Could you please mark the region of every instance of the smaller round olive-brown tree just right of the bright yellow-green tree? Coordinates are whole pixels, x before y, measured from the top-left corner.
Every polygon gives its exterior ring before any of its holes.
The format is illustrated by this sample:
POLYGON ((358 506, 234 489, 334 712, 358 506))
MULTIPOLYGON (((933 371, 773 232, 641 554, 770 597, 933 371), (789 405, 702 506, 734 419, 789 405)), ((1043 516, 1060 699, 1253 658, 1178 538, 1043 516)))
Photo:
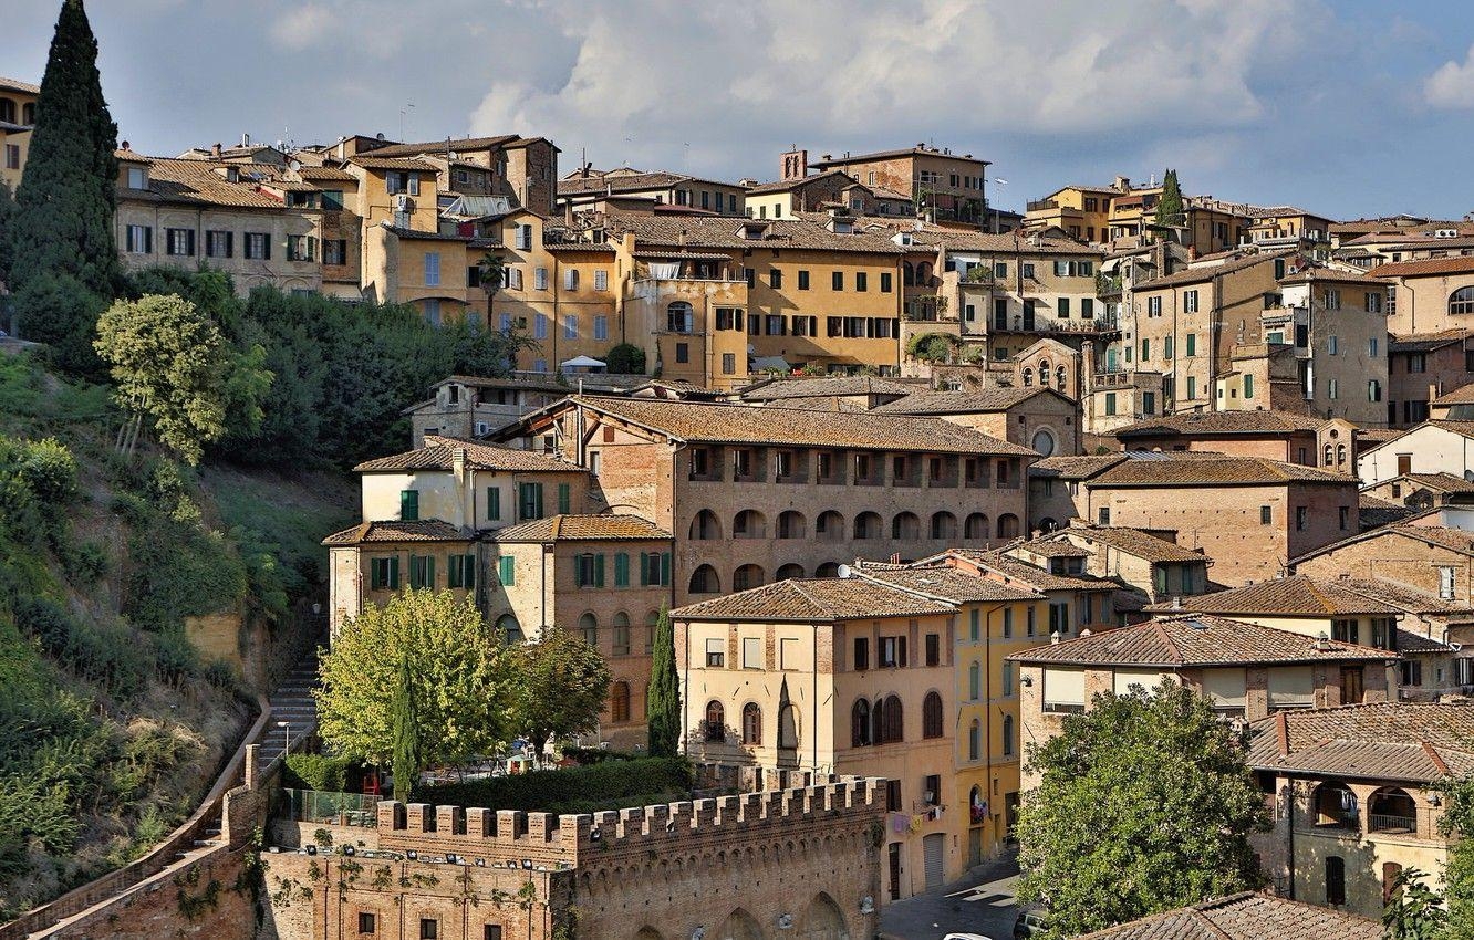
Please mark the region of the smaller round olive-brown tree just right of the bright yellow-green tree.
POLYGON ((550 628, 538 642, 511 648, 519 676, 513 720, 538 760, 550 740, 598 726, 609 697, 609 666, 598 650, 569 631, 550 628))

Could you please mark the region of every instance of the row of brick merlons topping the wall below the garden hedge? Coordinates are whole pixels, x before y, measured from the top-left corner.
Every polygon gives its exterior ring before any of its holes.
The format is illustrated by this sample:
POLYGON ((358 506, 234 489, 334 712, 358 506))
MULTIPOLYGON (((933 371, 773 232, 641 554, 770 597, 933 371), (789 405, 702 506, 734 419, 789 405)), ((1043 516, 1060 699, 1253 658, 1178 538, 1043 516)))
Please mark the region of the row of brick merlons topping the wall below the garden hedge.
POLYGON ((879 816, 884 781, 864 776, 802 775, 811 785, 706 800, 682 800, 593 815, 525 813, 482 807, 379 803, 379 849, 455 855, 467 862, 576 868, 594 853, 685 852, 736 838, 830 828, 840 818, 879 816))

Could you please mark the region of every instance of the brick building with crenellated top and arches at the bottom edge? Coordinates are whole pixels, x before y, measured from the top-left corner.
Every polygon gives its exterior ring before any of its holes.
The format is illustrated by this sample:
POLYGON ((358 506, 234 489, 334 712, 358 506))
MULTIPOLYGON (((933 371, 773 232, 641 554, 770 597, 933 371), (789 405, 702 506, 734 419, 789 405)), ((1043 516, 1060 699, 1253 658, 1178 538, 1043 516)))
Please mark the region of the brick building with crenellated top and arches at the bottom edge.
POLYGON ((268 927, 280 940, 870 937, 884 781, 818 781, 581 816, 383 802, 376 825, 333 829, 352 855, 261 856, 290 893, 270 899, 268 927))

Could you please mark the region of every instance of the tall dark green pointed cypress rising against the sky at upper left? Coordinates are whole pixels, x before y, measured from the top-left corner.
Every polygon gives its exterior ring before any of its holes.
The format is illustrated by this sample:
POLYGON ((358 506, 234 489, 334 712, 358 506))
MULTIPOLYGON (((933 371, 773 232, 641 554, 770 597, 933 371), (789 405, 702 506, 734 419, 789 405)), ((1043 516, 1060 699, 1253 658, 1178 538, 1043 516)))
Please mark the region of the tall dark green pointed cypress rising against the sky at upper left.
MULTIPOLYGON (((6 225, 6 249, 25 336, 50 343, 60 365, 90 370, 94 320, 87 305, 49 306, 37 290, 43 274, 63 278, 97 298, 112 298, 118 250, 118 125, 108 112, 97 72, 97 38, 83 0, 65 0, 35 103, 35 128, 18 214, 6 225)), ((96 312, 96 311, 93 311, 96 312)))

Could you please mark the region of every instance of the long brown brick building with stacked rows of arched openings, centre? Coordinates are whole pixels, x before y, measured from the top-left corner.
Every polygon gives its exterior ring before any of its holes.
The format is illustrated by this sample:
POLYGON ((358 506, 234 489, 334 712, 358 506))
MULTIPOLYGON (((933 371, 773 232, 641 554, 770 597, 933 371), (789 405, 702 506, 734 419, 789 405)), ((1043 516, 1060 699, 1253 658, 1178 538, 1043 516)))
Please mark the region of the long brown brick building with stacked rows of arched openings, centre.
POLYGON ((677 539, 678 603, 1023 532, 1033 452, 936 418, 573 396, 500 435, 677 539))

